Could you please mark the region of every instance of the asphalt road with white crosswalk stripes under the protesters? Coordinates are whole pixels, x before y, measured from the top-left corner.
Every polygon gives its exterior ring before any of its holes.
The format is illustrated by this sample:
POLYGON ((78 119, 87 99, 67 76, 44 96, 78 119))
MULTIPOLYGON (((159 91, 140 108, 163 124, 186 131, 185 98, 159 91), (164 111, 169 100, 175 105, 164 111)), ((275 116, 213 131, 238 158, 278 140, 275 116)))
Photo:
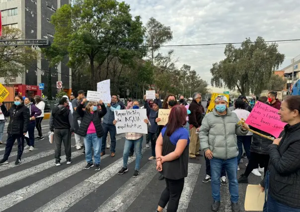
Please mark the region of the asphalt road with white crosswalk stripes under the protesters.
MULTIPOLYGON (((48 128, 48 120, 44 120, 44 135, 49 131, 48 128)), ((6 140, 6 136, 3 140, 6 140)), ((123 164, 124 140, 124 135, 117 136, 116 156, 102 157, 100 171, 83 169, 86 165, 85 157, 82 150, 75 149, 74 136, 72 164, 66 164, 62 150, 60 167, 54 166, 54 146, 48 138, 37 141, 34 151, 25 150, 19 166, 14 165, 17 151, 14 146, 8 159, 10 163, 0 166, 0 211, 154 212, 165 182, 157 180, 159 174, 155 170, 155 162, 148 160, 151 150, 145 148, 145 138, 139 177, 132 177, 135 157, 129 160, 129 171, 126 174, 117 174, 123 164)), ((0 145, 0 157, 4 148, 4 145, 0 145)), ((106 150, 106 153, 109 151, 106 150)), ((244 164, 240 165, 238 176, 243 173, 244 164)), ((211 185, 202 182, 206 175, 204 158, 189 161, 188 172, 178 212, 211 211, 211 185)), ((260 180, 260 177, 253 174, 249 176, 250 184, 258 184, 260 180)), ((239 185, 242 212, 246 186, 239 185)), ((220 212, 230 212, 228 186, 221 186, 221 195, 220 212)))

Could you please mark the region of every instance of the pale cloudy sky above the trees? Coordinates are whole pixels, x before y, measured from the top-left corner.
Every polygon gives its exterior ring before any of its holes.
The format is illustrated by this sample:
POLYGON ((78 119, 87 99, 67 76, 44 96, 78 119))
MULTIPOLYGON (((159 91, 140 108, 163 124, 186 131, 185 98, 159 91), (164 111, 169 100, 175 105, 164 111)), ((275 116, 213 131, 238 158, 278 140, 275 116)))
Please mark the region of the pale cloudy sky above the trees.
MULTIPOLYGON (((165 45, 242 42, 300 38, 299 0, 125 0, 133 16, 146 24, 152 16, 170 26, 173 40, 165 45)), ((300 55, 300 41, 278 42, 286 59, 280 69, 300 55)), ((236 45, 239 47, 240 45, 236 45)), ((190 65, 209 85, 212 64, 224 59, 225 45, 205 47, 162 47, 161 53, 174 49, 177 66, 190 65)), ((211 86, 210 86, 211 88, 211 86)), ((226 89, 216 89, 224 91, 226 89)))

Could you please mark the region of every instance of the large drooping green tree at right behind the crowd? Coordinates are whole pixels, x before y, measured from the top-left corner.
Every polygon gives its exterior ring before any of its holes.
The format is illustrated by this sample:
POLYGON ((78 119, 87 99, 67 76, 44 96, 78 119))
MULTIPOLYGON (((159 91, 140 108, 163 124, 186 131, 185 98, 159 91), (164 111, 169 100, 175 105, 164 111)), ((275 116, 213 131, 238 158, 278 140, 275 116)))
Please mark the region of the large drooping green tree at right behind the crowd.
POLYGON ((226 58, 211 68, 212 86, 237 88, 242 95, 251 91, 259 94, 272 76, 272 71, 283 63, 285 55, 278 52, 278 44, 267 44, 262 37, 252 42, 247 38, 240 48, 225 47, 226 58))

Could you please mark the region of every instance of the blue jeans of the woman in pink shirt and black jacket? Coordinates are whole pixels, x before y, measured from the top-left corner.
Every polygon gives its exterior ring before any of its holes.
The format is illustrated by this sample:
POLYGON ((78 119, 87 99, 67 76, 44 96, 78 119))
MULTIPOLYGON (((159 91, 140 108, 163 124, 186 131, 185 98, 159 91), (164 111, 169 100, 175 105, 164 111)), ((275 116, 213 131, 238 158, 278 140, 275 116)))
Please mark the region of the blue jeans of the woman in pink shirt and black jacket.
POLYGON ((97 133, 86 134, 84 137, 85 160, 87 163, 92 163, 92 148, 94 148, 95 164, 100 164, 100 147, 102 137, 97 137, 97 133))

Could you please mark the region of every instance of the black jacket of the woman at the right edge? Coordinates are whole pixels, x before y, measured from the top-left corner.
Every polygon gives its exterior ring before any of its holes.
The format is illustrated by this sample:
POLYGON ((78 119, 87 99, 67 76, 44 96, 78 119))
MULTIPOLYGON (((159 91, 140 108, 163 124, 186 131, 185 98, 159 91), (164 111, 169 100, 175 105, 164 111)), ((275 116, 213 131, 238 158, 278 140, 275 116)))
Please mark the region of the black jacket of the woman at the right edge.
POLYGON ((271 197, 300 209, 300 123, 286 125, 279 146, 270 145, 269 191, 271 197))

